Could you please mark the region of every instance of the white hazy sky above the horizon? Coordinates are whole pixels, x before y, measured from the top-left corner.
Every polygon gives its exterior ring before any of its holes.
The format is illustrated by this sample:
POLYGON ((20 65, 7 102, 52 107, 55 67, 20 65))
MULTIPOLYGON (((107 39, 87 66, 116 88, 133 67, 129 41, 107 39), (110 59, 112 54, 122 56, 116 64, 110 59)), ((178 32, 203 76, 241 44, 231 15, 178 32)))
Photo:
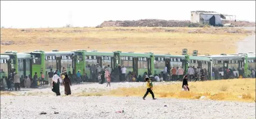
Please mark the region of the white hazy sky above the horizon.
POLYGON ((1 26, 97 26, 105 20, 190 20, 190 11, 216 11, 255 21, 255 1, 1 1, 1 26))

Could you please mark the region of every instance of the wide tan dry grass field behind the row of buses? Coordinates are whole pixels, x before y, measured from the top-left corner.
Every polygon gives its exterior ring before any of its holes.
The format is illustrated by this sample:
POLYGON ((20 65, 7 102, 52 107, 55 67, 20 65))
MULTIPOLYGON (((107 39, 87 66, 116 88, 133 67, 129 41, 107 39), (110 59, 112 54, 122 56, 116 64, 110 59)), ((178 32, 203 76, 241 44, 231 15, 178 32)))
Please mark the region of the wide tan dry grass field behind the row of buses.
POLYGON ((5 50, 97 49, 181 54, 183 48, 189 53, 197 49, 198 54, 235 53, 237 41, 251 33, 232 27, 1 28, 1 42, 14 42, 9 46, 1 44, 1 53, 5 50))

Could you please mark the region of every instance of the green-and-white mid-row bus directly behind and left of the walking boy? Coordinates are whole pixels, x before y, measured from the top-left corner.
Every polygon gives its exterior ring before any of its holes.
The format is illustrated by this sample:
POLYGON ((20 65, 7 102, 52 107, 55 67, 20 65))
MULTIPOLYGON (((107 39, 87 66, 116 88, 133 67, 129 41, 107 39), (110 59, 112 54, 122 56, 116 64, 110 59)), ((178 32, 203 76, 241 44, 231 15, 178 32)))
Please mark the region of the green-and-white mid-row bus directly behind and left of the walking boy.
POLYGON ((137 76, 143 76, 144 72, 147 72, 148 76, 154 73, 154 55, 152 53, 114 51, 113 55, 114 68, 118 64, 124 65, 126 73, 134 71, 137 76))

